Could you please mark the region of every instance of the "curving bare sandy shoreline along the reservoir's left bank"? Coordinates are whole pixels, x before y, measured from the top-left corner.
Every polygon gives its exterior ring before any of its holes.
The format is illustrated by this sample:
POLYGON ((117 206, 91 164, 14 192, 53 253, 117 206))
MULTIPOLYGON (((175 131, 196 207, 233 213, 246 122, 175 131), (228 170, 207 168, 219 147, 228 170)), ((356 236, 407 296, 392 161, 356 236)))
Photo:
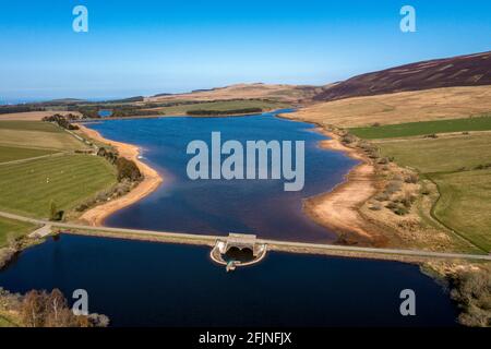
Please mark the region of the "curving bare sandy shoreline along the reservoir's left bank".
POLYGON ((80 130, 88 137, 113 146, 120 156, 133 160, 144 176, 143 181, 128 194, 85 212, 80 219, 91 226, 103 226, 104 220, 117 210, 128 207, 153 193, 163 182, 161 176, 139 159, 140 148, 132 144, 107 140, 95 130, 79 124, 80 130))

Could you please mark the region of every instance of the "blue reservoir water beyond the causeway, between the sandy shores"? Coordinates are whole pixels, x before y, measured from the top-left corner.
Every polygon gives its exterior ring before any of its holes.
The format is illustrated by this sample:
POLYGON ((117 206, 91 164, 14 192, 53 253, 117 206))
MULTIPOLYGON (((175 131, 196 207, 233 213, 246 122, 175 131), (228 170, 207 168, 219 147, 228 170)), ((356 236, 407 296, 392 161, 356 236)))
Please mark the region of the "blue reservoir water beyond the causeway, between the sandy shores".
POLYGON ((160 118, 111 120, 88 127, 104 136, 136 144, 144 160, 164 174, 164 184, 141 202, 118 212, 106 225, 139 229, 332 242, 335 234, 302 212, 302 200, 330 191, 356 164, 342 153, 319 148, 325 137, 314 127, 271 113, 243 118, 160 118), (221 142, 304 141, 306 185, 285 192, 283 180, 197 180, 187 176, 188 143, 221 132, 221 142))

